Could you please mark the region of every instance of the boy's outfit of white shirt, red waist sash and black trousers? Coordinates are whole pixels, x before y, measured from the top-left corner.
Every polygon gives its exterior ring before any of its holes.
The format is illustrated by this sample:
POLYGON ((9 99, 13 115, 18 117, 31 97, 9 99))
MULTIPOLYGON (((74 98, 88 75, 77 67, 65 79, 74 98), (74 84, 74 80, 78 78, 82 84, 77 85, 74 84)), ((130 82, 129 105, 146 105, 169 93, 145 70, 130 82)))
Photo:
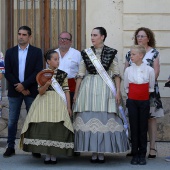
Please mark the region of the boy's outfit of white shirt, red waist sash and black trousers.
POLYGON ((149 93, 154 91, 154 84, 154 69, 147 66, 145 63, 141 65, 132 63, 131 67, 126 68, 124 74, 124 88, 128 94, 127 108, 134 161, 135 159, 145 158, 146 156, 148 118, 150 111, 149 93))

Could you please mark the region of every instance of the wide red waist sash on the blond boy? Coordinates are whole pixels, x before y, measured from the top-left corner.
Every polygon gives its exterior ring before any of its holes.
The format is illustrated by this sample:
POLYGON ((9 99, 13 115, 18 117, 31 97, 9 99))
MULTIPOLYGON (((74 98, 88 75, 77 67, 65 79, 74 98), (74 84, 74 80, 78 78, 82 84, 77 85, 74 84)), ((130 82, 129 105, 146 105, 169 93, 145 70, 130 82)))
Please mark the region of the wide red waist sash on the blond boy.
POLYGON ((149 100, 149 83, 130 83, 128 98, 132 100, 149 100))

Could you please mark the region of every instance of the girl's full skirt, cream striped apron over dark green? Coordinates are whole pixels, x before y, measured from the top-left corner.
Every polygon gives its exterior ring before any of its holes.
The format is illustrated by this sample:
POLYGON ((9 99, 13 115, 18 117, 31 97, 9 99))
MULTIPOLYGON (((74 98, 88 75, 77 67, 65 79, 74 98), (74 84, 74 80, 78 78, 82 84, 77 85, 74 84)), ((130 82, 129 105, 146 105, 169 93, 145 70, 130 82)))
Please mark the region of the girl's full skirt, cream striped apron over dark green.
POLYGON ((21 132, 20 148, 26 152, 71 156, 74 130, 67 106, 55 91, 38 95, 21 132))

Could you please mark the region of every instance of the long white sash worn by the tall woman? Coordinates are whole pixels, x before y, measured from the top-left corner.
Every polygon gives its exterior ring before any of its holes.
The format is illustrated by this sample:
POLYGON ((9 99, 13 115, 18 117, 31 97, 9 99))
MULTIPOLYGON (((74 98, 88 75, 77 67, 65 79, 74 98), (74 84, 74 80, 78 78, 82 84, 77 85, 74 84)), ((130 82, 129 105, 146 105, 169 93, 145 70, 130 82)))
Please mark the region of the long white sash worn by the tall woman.
MULTIPOLYGON (((110 90, 112 91, 113 95, 116 96, 116 88, 114 83, 112 82, 111 78, 109 77, 108 73, 102 66, 101 62, 98 60, 96 55, 94 54, 93 50, 91 48, 85 49, 85 52, 89 56, 91 62, 93 63, 94 67, 98 71, 99 75, 102 77, 104 82, 109 86, 110 90)), ((128 121, 126 119, 124 109, 121 105, 119 105, 119 111, 122 115, 123 121, 124 121, 124 128, 126 129, 126 134, 128 135, 128 121)))

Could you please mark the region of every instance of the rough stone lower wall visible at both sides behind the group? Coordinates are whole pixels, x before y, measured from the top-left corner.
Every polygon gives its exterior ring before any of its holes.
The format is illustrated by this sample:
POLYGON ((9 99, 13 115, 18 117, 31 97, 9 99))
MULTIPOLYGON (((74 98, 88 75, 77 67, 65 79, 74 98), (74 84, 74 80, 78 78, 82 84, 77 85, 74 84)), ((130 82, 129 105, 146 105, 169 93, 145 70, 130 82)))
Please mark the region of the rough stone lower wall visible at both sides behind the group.
MULTIPOLYGON (((162 98, 165 116, 157 119, 157 140, 170 141, 170 98, 162 98)), ((8 134, 8 98, 3 97, 2 100, 2 117, 0 118, 0 137, 7 137, 8 134)), ((19 138, 21 129, 26 117, 25 105, 22 105, 20 119, 18 122, 17 137, 19 138)))

